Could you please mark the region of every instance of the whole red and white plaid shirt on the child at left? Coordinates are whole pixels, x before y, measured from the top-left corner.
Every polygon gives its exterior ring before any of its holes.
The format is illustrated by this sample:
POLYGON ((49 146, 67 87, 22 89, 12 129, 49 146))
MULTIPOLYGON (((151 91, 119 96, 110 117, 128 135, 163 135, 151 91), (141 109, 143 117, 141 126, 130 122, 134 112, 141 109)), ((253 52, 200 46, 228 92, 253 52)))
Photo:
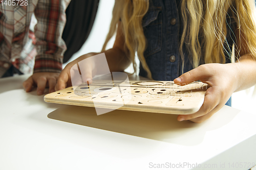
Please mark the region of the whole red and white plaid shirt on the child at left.
POLYGON ((61 36, 70 0, 14 1, 16 5, 10 6, 5 2, 0 0, 0 77, 11 64, 24 74, 33 68, 60 72, 66 50, 61 36))

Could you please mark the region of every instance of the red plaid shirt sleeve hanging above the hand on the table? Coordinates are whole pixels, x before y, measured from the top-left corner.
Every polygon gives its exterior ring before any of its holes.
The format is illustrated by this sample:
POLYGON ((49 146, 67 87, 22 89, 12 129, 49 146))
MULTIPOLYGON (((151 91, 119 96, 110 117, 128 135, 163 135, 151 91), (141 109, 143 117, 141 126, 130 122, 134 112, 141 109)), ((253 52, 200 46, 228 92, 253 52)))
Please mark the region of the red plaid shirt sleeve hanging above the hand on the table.
POLYGON ((61 38, 69 0, 39 0, 35 8, 36 50, 34 72, 60 72, 67 47, 61 38))

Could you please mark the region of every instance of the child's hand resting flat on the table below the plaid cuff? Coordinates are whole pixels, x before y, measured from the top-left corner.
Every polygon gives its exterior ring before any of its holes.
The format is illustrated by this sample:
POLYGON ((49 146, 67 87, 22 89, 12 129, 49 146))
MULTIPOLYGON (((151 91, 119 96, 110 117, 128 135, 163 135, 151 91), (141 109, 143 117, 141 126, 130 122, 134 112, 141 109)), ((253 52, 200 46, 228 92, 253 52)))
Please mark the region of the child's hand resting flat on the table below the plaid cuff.
POLYGON ((49 92, 54 92, 58 76, 56 72, 36 72, 23 82, 23 87, 29 92, 33 86, 37 86, 37 95, 42 95, 46 87, 49 87, 49 92))

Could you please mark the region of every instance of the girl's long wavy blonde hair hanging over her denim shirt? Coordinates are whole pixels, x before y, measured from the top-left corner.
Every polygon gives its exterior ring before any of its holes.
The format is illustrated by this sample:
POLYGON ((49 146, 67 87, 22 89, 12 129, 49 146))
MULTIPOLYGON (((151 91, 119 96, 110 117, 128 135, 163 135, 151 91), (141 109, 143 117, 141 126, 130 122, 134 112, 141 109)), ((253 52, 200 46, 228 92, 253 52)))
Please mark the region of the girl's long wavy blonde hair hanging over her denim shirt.
MULTIPOLYGON (((146 39, 142 28, 142 18, 148 7, 148 0, 116 0, 110 31, 102 51, 105 50, 111 37, 115 35, 118 21, 121 19, 126 53, 130 55, 134 70, 136 70, 135 53, 137 52, 141 65, 147 72, 147 77, 152 79, 150 68, 143 55, 146 39)), ((236 21, 237 30, 231 33, 236 35, 236 39, 233 40, 236 58, 239 59, 240 50, 243 49, 256 59, 255 9, 254 0, 182 0, 179 10, 183 22, 180 41, 183 65, 183 45, 191 54, 194 68, 199 66, 201 61, 225 63, 225 53, 231 58, 232 52, 224 48, 228 45, 226 17, 230 10, 233 15, 229 17, 236 21), (247 44, 241 44, 240 39, 245 39, 247 44)))

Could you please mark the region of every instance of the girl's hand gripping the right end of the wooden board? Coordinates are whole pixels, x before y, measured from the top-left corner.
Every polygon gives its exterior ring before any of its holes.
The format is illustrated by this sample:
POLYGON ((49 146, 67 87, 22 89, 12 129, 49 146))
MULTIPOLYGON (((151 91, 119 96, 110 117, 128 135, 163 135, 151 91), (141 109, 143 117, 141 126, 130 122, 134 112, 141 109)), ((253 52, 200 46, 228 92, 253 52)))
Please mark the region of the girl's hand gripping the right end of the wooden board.
POLYGON ((174 82, 179 85, 200 80, 210 87, 206 90, 204 103, 194 114, 179 115, 178 120, 201 123, 220 110, 237 88, 236 68, 233 64, 204 64, 186 72, 174 82))

